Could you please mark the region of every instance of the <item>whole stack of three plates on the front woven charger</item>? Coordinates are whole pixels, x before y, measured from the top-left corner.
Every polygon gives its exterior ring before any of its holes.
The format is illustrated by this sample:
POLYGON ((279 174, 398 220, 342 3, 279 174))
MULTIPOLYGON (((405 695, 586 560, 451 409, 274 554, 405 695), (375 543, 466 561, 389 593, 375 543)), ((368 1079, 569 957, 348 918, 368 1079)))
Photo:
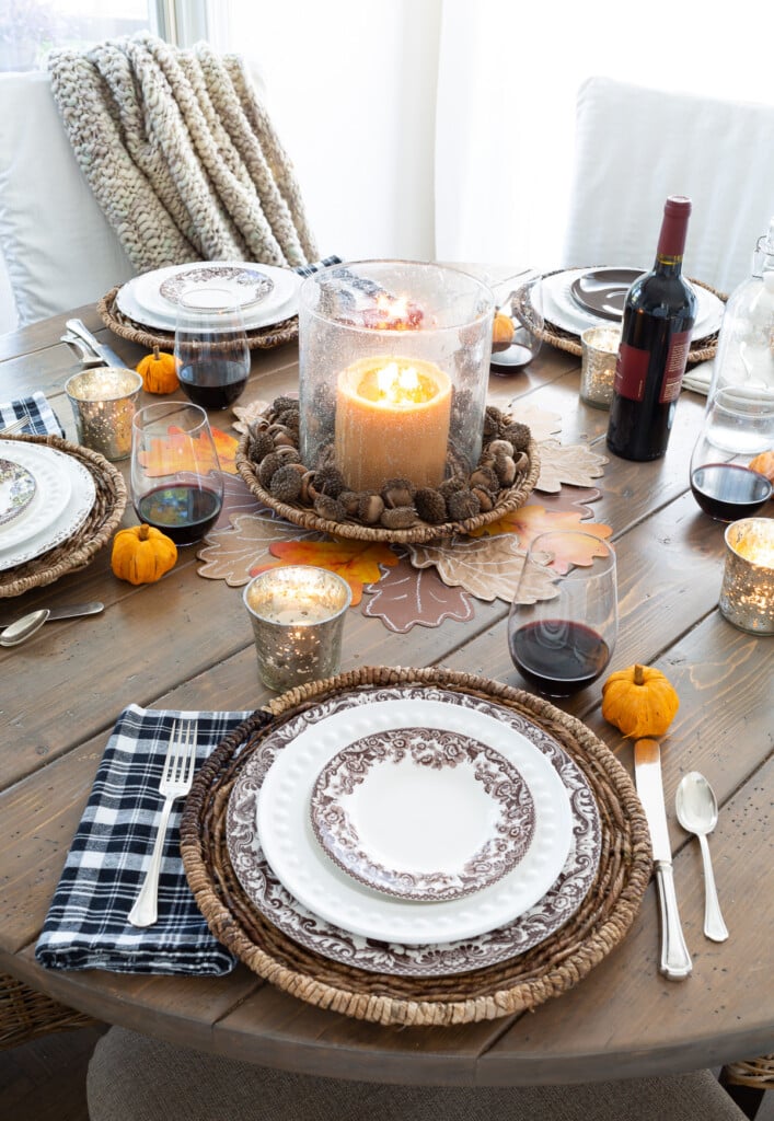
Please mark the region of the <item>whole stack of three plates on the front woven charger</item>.
POLYGON ((580 768, 526 716, 395 686, 270 732, 234 782, 227 841, 242 889, 288 938, 366 971, 439 976, 566 923, 601 827, 580 768))

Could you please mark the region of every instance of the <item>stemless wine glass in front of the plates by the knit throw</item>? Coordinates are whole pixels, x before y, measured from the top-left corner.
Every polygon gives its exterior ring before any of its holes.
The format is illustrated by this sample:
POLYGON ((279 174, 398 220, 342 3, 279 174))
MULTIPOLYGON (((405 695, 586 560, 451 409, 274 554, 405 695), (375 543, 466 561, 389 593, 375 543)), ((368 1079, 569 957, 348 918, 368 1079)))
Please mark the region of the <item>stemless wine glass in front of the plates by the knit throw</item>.
POLYGON ((240 396, 250 374, 245 319, 233 294, 193 287, 177 300, 177 377, 184 393, 205 409, 224 409, 240 396))

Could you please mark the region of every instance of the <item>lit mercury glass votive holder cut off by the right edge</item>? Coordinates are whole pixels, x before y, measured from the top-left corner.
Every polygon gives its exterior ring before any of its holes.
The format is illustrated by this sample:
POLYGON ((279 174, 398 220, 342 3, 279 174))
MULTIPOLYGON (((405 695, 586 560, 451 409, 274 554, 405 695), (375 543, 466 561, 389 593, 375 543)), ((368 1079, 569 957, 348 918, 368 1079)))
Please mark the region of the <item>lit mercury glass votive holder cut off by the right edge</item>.
POLYGON ((739 630, 774 634, 774 519, 732 521, 725 537, 720 611, 739 630))

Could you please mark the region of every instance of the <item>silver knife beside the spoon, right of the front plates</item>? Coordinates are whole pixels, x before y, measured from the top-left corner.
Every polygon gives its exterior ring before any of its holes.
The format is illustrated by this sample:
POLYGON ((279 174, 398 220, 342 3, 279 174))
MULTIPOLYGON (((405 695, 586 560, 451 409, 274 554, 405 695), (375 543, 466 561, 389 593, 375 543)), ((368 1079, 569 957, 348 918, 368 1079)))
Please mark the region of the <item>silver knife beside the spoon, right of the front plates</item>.
POLYGON ((637 794, 645 807, 651 831, 653 863, 661 908, 661 963, 658 969, 670 981, 682 981, 693 969, 683 938, 672 874, 672 849, 666 826, 664 786, 661 778, 661 752, 655 740, 637 740, 634 745, 634 772, 637 794))

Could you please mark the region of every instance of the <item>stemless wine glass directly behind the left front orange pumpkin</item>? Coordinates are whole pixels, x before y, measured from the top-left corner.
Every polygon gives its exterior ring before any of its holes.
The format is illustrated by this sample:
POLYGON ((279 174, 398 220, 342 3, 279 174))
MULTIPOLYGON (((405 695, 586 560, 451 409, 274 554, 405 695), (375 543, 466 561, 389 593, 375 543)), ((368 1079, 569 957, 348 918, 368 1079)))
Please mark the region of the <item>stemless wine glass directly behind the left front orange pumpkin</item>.
POLYGON ((157 401, 135 414, 131 500, 140 521, 177 545, 201 540, 223 504, 223 476, 206 413, 157 401))

